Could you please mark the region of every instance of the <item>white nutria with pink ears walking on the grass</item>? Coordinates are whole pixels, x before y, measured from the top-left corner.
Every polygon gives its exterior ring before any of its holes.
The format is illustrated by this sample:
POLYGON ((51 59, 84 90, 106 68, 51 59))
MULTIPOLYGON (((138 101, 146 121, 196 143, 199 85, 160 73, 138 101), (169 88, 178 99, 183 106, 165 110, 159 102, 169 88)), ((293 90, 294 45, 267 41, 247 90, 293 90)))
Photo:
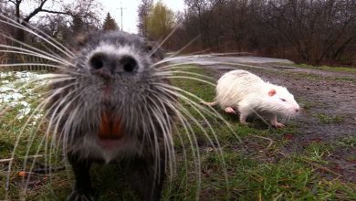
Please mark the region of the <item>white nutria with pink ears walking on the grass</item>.
POLYGON ((277 127, 277 116, 289 119, 298 114, 299 105, 285 87, 265 82, 257 75, 246 70, 232 70, 223 75, 216 86, 214 102, 202 102, 220 107, 229 113, 240 113, 240 122, 246 124, 246 118, 257 115, 277 127))

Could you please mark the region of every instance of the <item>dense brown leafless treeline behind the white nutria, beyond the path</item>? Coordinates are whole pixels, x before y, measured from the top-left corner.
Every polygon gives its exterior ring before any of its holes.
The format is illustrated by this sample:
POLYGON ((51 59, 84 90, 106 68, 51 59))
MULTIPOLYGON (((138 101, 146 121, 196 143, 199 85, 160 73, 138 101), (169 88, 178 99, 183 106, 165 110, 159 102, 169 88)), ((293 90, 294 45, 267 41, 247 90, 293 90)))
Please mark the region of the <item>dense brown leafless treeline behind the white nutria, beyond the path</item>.
POLYGON ((186 52, 248 51, 314 65, 356 66, 356 1, 184 2, 186 10, 176 15, 178 28, 168 48, 182 48, 199 36, 186 52))

